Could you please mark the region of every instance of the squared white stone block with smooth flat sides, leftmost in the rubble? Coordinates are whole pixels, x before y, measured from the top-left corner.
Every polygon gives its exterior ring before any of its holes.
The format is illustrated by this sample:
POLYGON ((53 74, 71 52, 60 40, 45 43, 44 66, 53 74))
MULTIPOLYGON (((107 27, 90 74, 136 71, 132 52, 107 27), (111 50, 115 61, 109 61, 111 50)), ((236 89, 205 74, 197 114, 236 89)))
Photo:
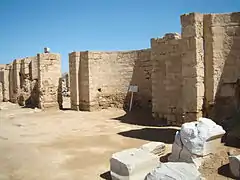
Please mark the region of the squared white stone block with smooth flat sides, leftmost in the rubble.
POLYGON ((112 155, 110 172, 113 180, 144 180, 159 164, 158 156, 132 148, 112 155))

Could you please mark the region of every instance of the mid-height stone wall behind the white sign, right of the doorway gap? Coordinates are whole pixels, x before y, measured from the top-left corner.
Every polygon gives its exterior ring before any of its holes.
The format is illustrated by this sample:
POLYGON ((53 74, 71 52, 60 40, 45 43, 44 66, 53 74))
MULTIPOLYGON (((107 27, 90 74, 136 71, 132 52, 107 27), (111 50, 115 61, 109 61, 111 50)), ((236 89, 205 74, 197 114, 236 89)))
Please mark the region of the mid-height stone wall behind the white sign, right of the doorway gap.
POLYGON ((123 108, 129 103, 129 85, 137 85, 139 91, 134 95, 134 107, 150 108, 150 55, 149 49, 71 53, 69 64, 72 106, 75 109, 78 106, 80 110, 123 108))

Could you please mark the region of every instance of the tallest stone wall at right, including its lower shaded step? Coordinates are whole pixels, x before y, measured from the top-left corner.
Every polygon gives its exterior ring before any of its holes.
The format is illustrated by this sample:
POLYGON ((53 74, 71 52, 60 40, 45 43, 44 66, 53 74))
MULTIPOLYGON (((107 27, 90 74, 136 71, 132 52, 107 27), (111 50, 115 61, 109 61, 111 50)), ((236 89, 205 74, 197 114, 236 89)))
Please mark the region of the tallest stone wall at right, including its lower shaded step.
POLYGON ((153 115, 170 124, 231 118, 240 104, 240 13, 190 13, 181 24, 181 38, 152 39, 153 115))

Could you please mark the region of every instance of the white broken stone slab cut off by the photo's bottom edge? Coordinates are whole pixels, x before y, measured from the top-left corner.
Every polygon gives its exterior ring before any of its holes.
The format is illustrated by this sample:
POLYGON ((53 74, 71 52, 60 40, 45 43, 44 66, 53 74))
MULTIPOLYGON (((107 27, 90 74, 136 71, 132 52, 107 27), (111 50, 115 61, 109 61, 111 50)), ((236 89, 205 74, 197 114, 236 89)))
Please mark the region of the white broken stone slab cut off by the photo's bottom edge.
POLYGON ((184 162, 161 163, 145 180, 201 180, 201 174, 193 164, 184 162))

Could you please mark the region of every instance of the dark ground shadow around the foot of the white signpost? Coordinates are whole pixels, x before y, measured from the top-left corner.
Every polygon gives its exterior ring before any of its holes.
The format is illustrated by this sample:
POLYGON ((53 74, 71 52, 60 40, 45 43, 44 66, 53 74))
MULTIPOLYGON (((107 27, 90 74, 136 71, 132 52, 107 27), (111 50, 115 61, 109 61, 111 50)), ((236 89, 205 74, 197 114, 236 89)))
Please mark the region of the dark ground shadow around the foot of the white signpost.
POLYGON ((126 114, 117 118, 112 118, 113 120, 119 120, 122 123, 141 125, 141 126, 167 126, 164 121, 156 121, 152 117, 151 110, 133 110, 126 111, 126 114))

